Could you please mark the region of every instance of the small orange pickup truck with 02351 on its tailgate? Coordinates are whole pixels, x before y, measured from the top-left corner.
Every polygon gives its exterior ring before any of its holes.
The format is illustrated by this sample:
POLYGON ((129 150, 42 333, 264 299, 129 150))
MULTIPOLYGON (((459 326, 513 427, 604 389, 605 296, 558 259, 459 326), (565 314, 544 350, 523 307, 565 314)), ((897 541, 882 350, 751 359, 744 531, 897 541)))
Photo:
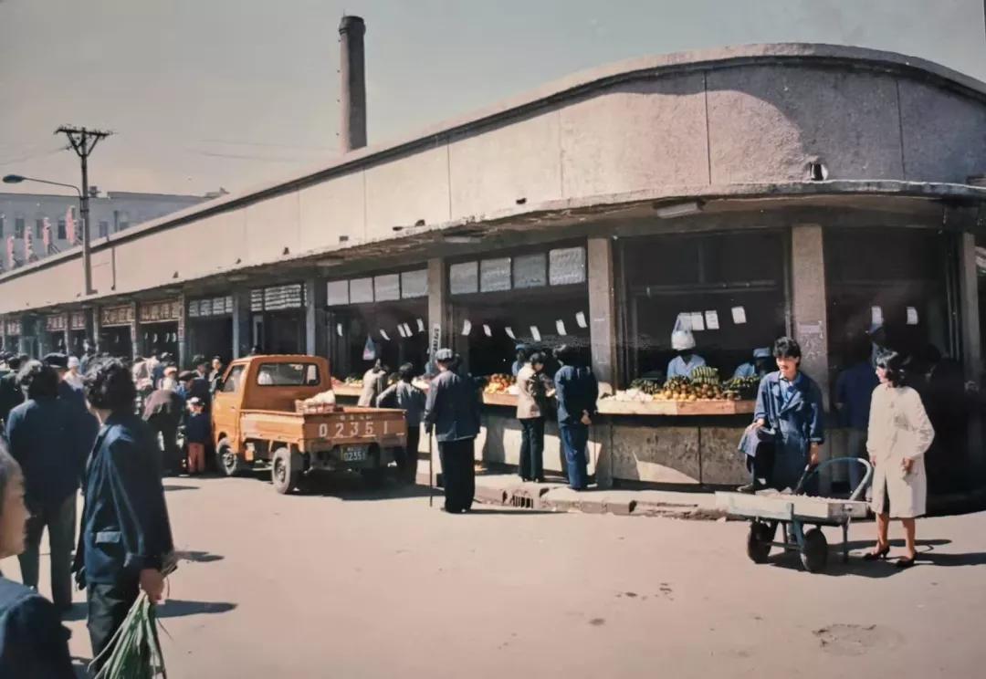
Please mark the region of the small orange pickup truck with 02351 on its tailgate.
POLYGON ((328 362, 316 356, 234 361, 212 401, 219 468, 232 476, 269 461, 278 493, 299 488, 318 471, 354 469, 379 483, 393 448, 407 439, 403 411, 326 406, 298 412, 298 401, 330 388, 328 362))

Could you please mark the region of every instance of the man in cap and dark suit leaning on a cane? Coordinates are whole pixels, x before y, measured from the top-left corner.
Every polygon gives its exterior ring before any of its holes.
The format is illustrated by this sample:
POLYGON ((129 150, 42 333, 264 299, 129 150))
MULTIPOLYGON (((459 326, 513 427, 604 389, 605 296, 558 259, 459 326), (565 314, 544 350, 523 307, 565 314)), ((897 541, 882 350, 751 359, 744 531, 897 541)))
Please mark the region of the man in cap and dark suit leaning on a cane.
POLYGON ((452 370, 456 357, 451 349, 435 352, 439 373, 432 379, 425 405, 425 428, 435 432, 442 461, 445 510, 468 511, 475 495, 473 441, 479 434, 479 391, 471 377, 452 370))

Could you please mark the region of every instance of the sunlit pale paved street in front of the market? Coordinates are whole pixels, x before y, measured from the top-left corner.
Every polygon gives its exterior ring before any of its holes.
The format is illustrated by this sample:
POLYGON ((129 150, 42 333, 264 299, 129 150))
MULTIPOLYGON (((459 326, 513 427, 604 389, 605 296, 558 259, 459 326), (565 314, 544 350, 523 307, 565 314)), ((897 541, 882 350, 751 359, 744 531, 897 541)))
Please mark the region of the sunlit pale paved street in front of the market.
MULTIPOLYGON (((254 479, 166 488, 187 559, 162 609, 173 677, 957 677, 986 663, 983 514, 921 521, 926 560, 909 572, 812 576, 749 563, 735 522, 453 516, 355 480, 315 497, 254 479)), ((871 530, 854 528, 855 549, 871 530)), ((18 577, 16 559, 2 567, 18 577)), ((88 658, 76 608, 71 648, 88 658)))

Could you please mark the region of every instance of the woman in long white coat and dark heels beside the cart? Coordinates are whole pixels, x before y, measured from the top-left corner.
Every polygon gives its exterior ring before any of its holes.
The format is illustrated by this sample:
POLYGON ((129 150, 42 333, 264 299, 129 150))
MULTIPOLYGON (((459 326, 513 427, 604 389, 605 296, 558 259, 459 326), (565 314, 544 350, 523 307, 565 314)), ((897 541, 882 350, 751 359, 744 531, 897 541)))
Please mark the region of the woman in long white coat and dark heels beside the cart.
POLYGON ((877 361, 880 385, 873 392, 867 450, 874 465, 873 503, 877 514, 877 546, 867 561, 885 559, 890 551, 887 530, 899 518, 907 535, 907 556, 897 568, 914 565, 914 519, 925 513, 928 480, 924 453, 935 430, 918 392, 905 385, 904 358, 890 352, 877 361))

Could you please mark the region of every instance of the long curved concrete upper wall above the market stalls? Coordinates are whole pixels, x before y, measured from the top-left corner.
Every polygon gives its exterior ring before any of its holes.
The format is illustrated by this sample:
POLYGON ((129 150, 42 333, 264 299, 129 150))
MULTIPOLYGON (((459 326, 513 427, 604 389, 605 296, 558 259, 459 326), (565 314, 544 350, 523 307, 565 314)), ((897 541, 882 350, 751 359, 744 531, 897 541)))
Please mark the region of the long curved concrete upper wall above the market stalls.
MULTIPOLYGON (((610 69, 399 149, 354 154, 262 199, 221 198, 139 238, 98 243, 96 288, 171 285, 336 249, 340 237, 400 238, 394 227, 481 222, 551 201, 804 180, 813 160, 829 179, 964 181, 986 172, 986 86, 898 55, 774 47, 610 69), (230 212, 204 212, 224 206, 230 212), (192 240, 200 247, 188 250, 192 240), (161 256, 168 252, 181 256, 161 256)), ((0 313, 76 300, 74 286, 30 276, 29 285, 0 276, 0 313)))

